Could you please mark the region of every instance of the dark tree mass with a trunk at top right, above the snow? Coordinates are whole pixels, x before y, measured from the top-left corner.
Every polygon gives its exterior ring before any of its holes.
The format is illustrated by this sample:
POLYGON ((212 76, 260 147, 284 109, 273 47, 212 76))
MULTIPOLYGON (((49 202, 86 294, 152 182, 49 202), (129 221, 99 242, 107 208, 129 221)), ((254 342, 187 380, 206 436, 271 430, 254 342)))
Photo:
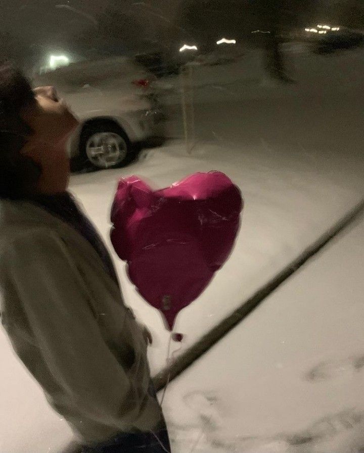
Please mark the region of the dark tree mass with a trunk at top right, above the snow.
POLYGON ((362 0, 189 0, 180 4, 181 27, 211 51, 218 37, 236 37, 263 47, 272 78, 290 82, 282 43, 297 30, 317 23, 364 29, 362 0), (256 30, 265 33, 252 33, 256 30))

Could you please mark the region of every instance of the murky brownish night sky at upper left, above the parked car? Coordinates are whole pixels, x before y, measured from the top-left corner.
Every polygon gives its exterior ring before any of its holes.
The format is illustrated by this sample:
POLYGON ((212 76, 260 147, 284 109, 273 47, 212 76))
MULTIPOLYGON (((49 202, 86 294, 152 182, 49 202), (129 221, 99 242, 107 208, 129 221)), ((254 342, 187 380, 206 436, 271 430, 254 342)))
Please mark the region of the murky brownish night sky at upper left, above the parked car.
POLYGON ((144 35, 153 38, 163 28, 158 15, 168 17, 177 4, 178 0, 2 0, 0 53, 38 61, 55 52, 88 58, 92 51, 120 55, 132 45, 143 51, 144 35), (125 11, 131 12, 127 20, 125 11))

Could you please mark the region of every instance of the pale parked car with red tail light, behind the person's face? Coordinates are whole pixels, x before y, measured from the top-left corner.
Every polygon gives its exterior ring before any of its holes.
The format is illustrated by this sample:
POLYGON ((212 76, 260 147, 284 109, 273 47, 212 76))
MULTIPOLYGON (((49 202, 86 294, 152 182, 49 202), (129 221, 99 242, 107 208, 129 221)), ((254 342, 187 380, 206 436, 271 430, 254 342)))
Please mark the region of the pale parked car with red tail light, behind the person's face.
POLYGON ((155 77, 132 58, 73 63, 34 77, 54 85, 80 119, 69 140, 71 159, 97 168, 130 162, 134 145, 163 139, 163 108, 155 77))

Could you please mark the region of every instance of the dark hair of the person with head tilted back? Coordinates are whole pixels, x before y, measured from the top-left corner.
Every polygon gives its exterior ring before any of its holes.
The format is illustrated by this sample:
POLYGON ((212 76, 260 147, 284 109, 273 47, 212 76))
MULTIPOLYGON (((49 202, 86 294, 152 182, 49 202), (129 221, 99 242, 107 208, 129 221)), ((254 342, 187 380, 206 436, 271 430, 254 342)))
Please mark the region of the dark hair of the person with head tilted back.
POLYGON ((21 199, 32 193, 41 169, 20 154, 33 133, 22 111, 35 105, 28 79, 10 63, 0 63, 0 198, 21 199))

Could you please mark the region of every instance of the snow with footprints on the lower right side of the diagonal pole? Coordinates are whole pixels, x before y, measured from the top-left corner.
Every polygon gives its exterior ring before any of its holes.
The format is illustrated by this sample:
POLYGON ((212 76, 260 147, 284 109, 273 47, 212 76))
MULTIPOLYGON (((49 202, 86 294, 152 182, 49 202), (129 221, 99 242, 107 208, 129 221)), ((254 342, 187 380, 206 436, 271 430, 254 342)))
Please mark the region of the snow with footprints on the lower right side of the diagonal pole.
POLYGON ((364 449, 364 219, 167 387, 173 453, 364 449))

